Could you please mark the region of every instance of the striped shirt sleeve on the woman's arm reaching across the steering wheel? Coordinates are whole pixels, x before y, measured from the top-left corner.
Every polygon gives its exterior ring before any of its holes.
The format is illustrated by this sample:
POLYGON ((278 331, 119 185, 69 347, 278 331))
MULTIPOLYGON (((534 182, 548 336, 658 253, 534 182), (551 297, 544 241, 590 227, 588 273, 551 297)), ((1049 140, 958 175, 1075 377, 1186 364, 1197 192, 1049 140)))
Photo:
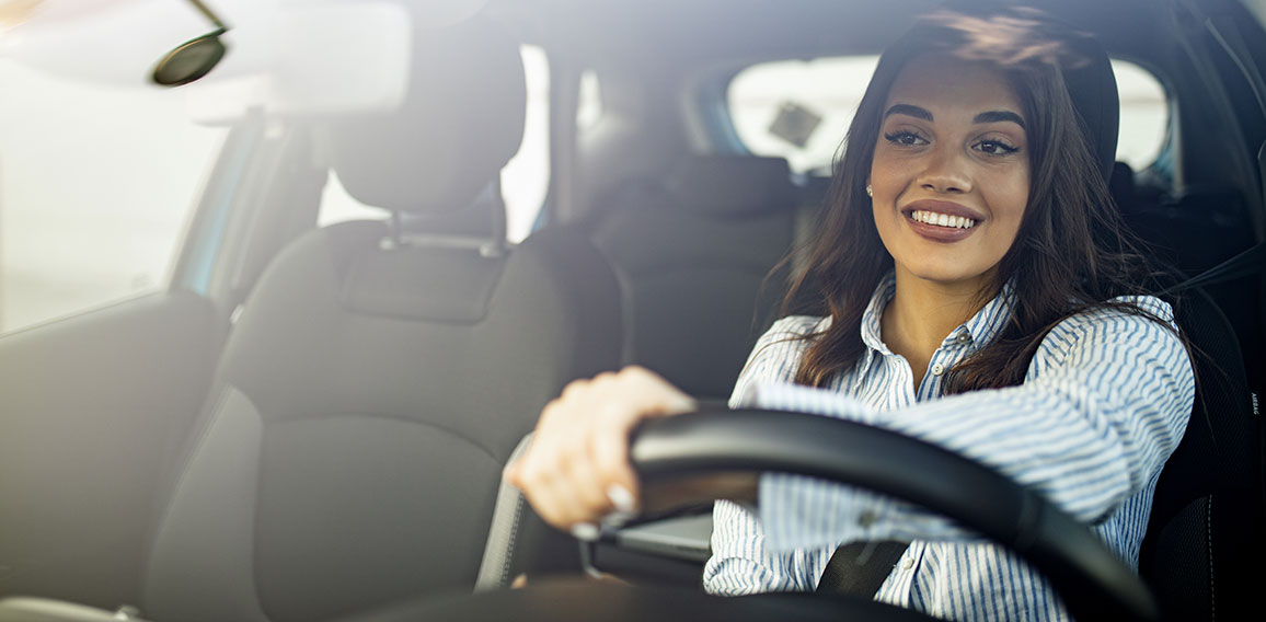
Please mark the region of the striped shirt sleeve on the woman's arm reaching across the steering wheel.
MULTIPOLYGON (((1160 300, 1134 301, 1171 319, 1160 300)), ((890 412, 803 386, 757 383, 746 390, 761 408, 860 421, 958 452, 1094 523, 1163 466, 1186 429, 1195 384, 1186 350, 1171 329, 1101 309, 1052 329, 1019 386, 890 412)), ((804 476, 763 475, 760 500, 766 551, 976 537, 910 504, 804 476)))

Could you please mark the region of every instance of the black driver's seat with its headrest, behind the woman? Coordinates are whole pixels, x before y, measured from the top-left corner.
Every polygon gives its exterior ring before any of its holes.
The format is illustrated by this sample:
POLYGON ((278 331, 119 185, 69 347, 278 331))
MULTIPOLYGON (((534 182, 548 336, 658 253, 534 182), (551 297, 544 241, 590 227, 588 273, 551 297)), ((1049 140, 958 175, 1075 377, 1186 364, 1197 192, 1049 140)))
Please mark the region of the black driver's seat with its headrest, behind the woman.
MULTIPOLYGON (((1114 162, 1119 104, 1112 65, 1093 39, 1077 48, 1091 62, 1065 73, 1070 95, 1125 220, 1156 242, 1139 225, 1146 210, 1133 195, 1132 171, 1114 162)), ((1217 611, 1251 604, 1256 589, 1255 574, 1244 570, 1252 568, 1248 560, 1260 565, 1262 490, 1256 447, 1261 432, 1227 317, 1199 290, 1180 296, 1175 310, 1194 346, 1196 402, 1179 447, 1158 476, 1139 571, 1166 618, 1214 619, 1217 611)))

